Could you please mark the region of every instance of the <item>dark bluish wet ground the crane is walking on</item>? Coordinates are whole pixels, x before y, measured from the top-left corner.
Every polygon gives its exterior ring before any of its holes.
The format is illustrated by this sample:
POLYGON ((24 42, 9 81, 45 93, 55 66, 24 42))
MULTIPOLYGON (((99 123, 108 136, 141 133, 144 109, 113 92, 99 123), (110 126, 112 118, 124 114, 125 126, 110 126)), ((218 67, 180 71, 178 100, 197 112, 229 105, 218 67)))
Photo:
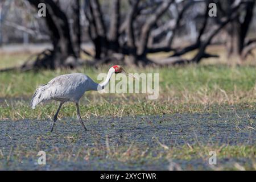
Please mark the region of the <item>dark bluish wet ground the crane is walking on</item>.
MULTIPOLYGON (((163 116, 137 116, 122 118, 90 118, 85 120, 84 131, 76 119, 57 121, 53 133, 49 133, 51 121, 0 121, 0 169, 149 169, 165 170, 178 164, 183 169, 211 169, 202 159, 158 158, 143 160, 115 160, 95 155, 88 160, 60 160, 52 157, 39 166, 35 151, 71 151, 76 155, 81 148, 110 148, 139 146, 147 148, 152 156, 164 150, 159 142, 169 147, 214 144, 255 145, 256 113, 253 110, 223 111, 222 113, 172 114, 163 116), (108 140, 106 143, 106 140, 108 140), (160 149, 159 149, 160 148, 160 149), (20 152, 19 152, 20 151, 20 152), (24 152, 26 151, 26 152, 24 152), (31 153, 30 153, 31 151, 31 153), (33 155, 32 155, 33 154, 33 155), (2 156, 1 156, 2 155, 2 156), (22 156, 24 155, 24 156, 22 156)), ((143 158, 143 157, 142 157, 143 158)), ((232 162, 251 165, 251 159, 221 159, 225 165, 232 162)))

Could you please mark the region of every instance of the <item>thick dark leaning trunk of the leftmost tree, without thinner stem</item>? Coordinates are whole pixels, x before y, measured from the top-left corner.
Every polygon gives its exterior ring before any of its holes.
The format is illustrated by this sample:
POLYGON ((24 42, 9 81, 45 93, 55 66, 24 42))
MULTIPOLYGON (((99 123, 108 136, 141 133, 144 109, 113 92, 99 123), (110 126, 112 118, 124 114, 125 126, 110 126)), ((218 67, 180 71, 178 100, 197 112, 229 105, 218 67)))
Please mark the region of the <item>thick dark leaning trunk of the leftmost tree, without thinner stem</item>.
POLYGON ((35 68, 76 67, 77 55, 72 46, 68 19, 65 13, 52 0, 28 0, 31 5, 38 7, 39 3, 46 3, 47 27, 51 34, 53 50, 51 55, 38 59, 34 63, 35 68))

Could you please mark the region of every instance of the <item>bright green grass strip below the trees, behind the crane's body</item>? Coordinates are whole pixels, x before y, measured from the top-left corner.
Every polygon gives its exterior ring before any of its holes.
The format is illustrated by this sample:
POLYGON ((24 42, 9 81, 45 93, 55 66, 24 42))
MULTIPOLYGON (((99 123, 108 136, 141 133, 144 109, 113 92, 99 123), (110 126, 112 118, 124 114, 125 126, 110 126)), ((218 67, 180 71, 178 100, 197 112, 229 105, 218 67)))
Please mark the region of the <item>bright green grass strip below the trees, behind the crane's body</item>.
MULTIPOLYGON (((65 73, 81 72, 97 81, 97 75, 108 72, 108 69, 108 67, 104 67, 100 70, 81 68, 75 71, 4 72, 0 77, 0 97, 31 96, 38 85, 47 83, 53 77, 65 73)), ((214 92, 216 88, 223 89, 225 92, 234 92, 234 90, 248 92, 255 89, 256 86, 256 72, 255 67, 252 66, 190 65, 160 69, 126 69, 130 73, 159 73, 160 92, 167 96, 171 92, 185 90, 191 93, 206 90, 210 93, 214 92)))

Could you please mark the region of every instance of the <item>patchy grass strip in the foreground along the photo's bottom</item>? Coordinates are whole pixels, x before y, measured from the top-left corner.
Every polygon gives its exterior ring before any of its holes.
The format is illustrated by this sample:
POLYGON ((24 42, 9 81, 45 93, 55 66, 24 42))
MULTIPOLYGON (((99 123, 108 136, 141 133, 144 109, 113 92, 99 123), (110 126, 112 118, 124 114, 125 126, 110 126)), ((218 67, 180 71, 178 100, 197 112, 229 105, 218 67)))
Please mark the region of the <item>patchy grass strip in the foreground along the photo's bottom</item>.
MULTIPOLYGON (((38 141, 43 140, 44 137, 38 138, 38 141)), ((76 142, 73 136, 67 137, 67 142, 76 142)), ((35 148, 34 150, 27 150, 26 147, 18 146, 11 150, 11 155, 0 155, 0 160, 5 161, 0 163, 0 169, 30 169, 30 167, 24 166, 23 162, 26 160, 34 160, 39 158, 36 156, 41 148, 35 148)), ((118 170, 125 164, 126 167, 133 169, 143 169, 143 166, 162 166, 162 169, 169 170, 256 170, 255 160, 255 146, 230 146, 228 144, 222 146, 214 146, 207 144, 201 146, 199 144, 184 144, 182 146, 155 146, 148 149, 146 146, 94 146, 94 147, 80 147, 76 151, 74 150, 60 150, 58 147, 53 147, 52 150, 46 151, 47 165, 58 166, 67 163, 88 163, 92 165, 92 169, 115 169, 118 170), (217 165, 208 165, 210 158, 209 151, 216 151, 217 165), (232 160, 228 160, 232 159, 232 160), (250 162, 241 163, 238 159, 251 159, 250 162), (189 161, 193 161, 189 164, 189 161), (109 162, 114 162, 114 165, 110 167, 109 162), (181 166, 180 163, 185 163, 181 166), (58 164, 59 163, 59 164, 58 164), (163 163, 165 165, 163 165, 163 163), (194 163, 194 164, 193 164, 194 163), (199 163, 199 164, 196 164, 199 163), (175 165, 174 167, 171 167, 175 165), (208 165, 208 168, 205 166, 208 165), (165 166, 165 167, 163 167, 165 166), (93 168, 94 167, 94 168, 93 168)), ((25 163, 26 164, 26 163, 25 163)), ((81 165, 82 166, 82 165, 81 165)), ((42 166, 43 168, 44 166, 42 166)), ((144 167, 144 168, 145 168, 144 167)), ((35 168, 35 166, 32 166, 35 168)), ((36 167, 40 169, 40 166, 36 167)), ((65 167, 61 167, 64 168, 65 167)), ((67 169, 67 168, 66 168, 67 169)), ((80 168, 77 168, 80 169, 80 168)))

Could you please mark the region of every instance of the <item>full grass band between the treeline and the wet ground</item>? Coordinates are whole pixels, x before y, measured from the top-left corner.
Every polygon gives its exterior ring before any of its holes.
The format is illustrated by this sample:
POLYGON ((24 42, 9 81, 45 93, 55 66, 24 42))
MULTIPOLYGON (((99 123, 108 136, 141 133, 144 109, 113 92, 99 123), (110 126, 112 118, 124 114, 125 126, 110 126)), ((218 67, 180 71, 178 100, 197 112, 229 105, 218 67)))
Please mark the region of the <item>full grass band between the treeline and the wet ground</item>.
MULTIPOLYGON (((39 105, 31 110, 29 100, 37 86, 65 73, 81 72, 97 81, 101 69, 80 68, 40 72, 0 73, 0 118, 46 119, 57 109, 57 102, 39 105), (18 98, 18 101, 13 98, 18 98), (24 98, 20 101, 19 98, 24 98)), ((141 115, 210 111, 217 106, 248 107, 255 109, 255 67, 227 65, 189 65, 187 67, 129 69, 130 73, 159 73, 159 98, 147 100, 146 94, 100 94, 88 92, 82 98, 81 110, 85 116, 141 115)), ((100 82, 100 81, 98 81, 100 82)), ((73 117, 75 106, 67 104, 65 115, 73 117)), ((60 114, 62 116, 62 114, 60 114)))

